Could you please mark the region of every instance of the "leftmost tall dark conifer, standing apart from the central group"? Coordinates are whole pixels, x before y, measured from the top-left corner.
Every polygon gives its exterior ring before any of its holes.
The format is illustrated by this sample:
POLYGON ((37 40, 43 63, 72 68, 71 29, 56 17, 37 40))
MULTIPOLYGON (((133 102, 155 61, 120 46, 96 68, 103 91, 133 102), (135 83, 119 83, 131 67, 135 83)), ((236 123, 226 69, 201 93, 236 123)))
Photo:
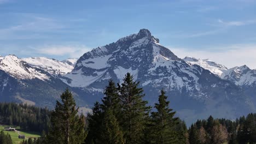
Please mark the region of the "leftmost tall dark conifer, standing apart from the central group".
POLYGON ((84 116, 78 116, 78 108, 71 92, 66 89, 57 101, 51 115, 51 129, 48 143, 77 144, 83 143, 86 137, 84 116))

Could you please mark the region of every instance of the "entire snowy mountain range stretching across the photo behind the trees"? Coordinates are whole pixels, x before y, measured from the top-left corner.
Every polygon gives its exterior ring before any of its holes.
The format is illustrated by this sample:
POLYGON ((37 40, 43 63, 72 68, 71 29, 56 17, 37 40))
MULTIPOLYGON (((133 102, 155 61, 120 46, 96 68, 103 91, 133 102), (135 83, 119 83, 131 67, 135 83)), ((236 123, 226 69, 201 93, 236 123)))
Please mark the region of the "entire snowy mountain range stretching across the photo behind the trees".
POLYGON ((53 108, 68 87, 86 112, 104 96, 109 79, 121 83, 127 72, 140 82, 150 105, 164 89, 171 107, 187 123, 209 115, 234 119, 255 111, 256 70, 179 58, 148 29, 99 46, 79 59, 0 57, 0 100, 53 108))

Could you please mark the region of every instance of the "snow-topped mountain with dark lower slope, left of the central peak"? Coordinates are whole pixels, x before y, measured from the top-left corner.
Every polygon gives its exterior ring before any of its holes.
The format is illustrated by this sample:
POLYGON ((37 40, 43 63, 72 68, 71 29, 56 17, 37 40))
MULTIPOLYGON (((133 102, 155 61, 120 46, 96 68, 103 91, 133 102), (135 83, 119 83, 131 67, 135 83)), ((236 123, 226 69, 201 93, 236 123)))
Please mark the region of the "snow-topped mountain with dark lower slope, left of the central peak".
MULTIPOLYGON (((68 73, 72 68, 73 66, 54 59, 5 56, 0 61, 0 101, 53 108, 54 101, 69 87, 54 74, 65 70, 68 73)), ((74 95, 78 100, 79 96, 76 93, 74 95)), ((83 100, 78 101, 85 104, 83 100)))

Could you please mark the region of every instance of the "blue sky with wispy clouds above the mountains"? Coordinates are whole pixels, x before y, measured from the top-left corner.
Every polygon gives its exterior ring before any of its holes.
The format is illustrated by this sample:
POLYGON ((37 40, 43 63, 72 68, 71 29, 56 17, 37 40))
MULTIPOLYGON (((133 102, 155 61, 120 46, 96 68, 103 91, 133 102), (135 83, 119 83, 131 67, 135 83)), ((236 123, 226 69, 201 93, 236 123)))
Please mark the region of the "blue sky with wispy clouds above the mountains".
POLYGON ((147 28, 176 55, 256 69, 256 1, 0 0, 0 55, 80 57, 147 28))

